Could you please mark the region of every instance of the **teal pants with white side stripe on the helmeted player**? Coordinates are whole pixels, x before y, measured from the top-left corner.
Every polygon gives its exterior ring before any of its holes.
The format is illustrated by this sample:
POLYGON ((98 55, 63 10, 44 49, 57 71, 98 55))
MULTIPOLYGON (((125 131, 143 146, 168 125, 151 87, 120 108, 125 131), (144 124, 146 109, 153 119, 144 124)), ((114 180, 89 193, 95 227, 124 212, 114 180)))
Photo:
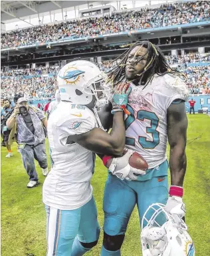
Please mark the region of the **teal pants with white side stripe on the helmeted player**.
POLYGON ((69 256, 75 237, 84 243, 97 241, 100 227, 94 198, 75 210, 58 210, 45 206, 47 211, 47 256, 69 256))

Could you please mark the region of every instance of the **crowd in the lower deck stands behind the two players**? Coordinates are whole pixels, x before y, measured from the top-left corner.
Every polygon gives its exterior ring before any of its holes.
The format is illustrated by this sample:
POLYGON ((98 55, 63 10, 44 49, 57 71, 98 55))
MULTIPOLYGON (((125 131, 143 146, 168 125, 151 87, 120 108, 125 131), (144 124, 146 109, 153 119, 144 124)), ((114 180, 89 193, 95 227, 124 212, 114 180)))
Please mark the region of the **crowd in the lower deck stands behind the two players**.
MULTIPOLYGON (((171 57, 174 59, 174 57, 171 57)), ((185 58, 189 58, 185 55, 185 58)), ((203 57, 202 57, 203 58, 203 57)), ((209 58, 209 55, 207 56, 209 58)), ((179 59, 179 57, 177 57, 179 59)), ((181 59, 181 58, 180 58, 181 59)), ((193 61, 193 55, 189 60, 193 61)), ((104 61, 98 63, 104 72, 109 71, 116 65, 116 62, 104 61)), ((58 66, 39 67, 37 69, 19 69, 11 71, 1 71, 1 97, 12 98, 15 92, 24 93, 29 99, 49 99, 56 91, 56 75, 58 66), (51 74, 49 76, 48 74, 51 74), (27 75, 27 77, 25 77, 27 75)), ((185 67, 180 65, 179 69, 186 75, 186 83, 189 93, 210 94, 210 66, 199 65, 195 67, 185 67)))

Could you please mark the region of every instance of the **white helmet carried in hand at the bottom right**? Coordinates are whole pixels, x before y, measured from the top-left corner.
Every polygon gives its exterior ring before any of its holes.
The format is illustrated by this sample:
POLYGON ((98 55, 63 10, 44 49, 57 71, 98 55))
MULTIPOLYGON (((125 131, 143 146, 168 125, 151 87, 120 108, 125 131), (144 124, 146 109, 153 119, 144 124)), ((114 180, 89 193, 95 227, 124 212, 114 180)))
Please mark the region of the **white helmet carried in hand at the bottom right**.
POLYGON ((154 203, 144 213, 141 233, 143 256, 195 256, 187 225, 184 221, 178 225, 164 207, 161 203, 154 203), (160 220, 165 223, 159 225, 160 220))

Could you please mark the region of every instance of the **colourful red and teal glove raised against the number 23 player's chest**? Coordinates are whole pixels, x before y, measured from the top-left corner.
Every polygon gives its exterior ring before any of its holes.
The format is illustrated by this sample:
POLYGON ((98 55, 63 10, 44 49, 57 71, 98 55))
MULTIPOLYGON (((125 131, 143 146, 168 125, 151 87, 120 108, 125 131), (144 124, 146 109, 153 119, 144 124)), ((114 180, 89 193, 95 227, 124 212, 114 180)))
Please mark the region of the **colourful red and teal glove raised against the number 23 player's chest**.
POLYGON ((128 96, 131 90, 132 88, 130 87, 130 83, 119 83, 117 87, 114 89, 114 95, 112 97, 113 108, 122 106, 126 107, 126 105, 128 104, 128 96))

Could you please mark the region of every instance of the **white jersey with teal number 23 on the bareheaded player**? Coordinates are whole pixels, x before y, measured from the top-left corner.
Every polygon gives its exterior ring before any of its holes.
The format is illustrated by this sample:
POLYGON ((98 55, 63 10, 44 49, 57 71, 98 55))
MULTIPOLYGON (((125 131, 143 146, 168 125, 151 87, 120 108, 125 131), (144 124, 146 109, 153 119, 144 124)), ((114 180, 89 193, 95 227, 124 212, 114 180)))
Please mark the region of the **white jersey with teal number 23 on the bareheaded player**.
POLYGON ((151 169, 167 159, 167 108, 175 99, 187 101, 188 90, 179 77, 171 75, 155 75, 145 88, 131 86, 130 115, 125 116, 126 147, 140 153, 151 169))

